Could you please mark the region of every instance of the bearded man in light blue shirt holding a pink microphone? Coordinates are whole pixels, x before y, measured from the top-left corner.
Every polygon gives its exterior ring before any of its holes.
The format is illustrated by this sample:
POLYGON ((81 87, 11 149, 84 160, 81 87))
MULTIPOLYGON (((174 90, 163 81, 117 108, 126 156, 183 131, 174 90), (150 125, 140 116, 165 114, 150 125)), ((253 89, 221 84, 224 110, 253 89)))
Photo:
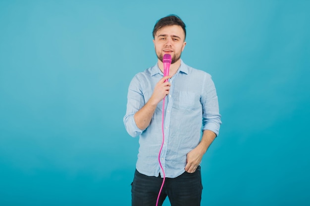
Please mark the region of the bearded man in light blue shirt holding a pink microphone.
POLYGON ((132 205, 155 206, 165 173, 158 205, 168 196, 171 206, 200 206, 200 163, 221 124, 216 90, 209 74, 187 66, 180 59, 186 45, 186 29, 178 16, 159 19, 153 38, 157 64, 131 81, 124 116, 127 132, 133 137, 140 135, 132 205), (163 77, 164 54, 172 57, 166 77, 163 77), (160 153, 163 173, 158 153, 163 139, 164 97, 165 141, 160 153))

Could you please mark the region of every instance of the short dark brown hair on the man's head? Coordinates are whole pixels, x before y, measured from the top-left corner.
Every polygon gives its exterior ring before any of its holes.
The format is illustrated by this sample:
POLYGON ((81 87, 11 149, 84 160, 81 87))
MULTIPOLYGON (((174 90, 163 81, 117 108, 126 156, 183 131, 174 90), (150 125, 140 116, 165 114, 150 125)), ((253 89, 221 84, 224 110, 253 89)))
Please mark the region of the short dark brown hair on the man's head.
POLYGON ((162 27, 173 26, 173 25, 178 25, 182 27, 184 34, 185 34, 185 38, 186 38, 186 29, 185 29, 186 26, 184 22, 181 20, 181 18, 174 14, 163 17, 156 22, 154 29, 153 29, 153 38, 155 38, 156 32, 162 27))

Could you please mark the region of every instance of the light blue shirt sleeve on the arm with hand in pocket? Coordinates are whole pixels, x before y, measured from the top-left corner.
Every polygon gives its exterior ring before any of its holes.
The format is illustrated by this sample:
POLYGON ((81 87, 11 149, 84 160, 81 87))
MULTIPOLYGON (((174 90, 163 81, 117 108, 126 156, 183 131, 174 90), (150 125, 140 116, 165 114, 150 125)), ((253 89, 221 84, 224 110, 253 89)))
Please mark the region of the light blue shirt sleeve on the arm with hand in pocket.
POLYGON ((218 98, 216 89, 211 76, 207 74, 204 78, 202 87, 201 103, 203 107, 203 128, 202 130, 211 130, 216 136, 219 133, 221 115, 219 114, 218 98))

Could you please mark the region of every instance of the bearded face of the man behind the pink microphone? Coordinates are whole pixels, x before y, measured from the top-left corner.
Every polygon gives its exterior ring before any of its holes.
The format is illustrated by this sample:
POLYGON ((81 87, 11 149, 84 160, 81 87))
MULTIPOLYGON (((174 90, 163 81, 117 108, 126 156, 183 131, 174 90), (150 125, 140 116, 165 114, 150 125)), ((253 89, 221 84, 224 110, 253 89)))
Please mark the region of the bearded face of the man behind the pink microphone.
POLYGON ((157 58, 162 61, 164 54, 171 55, 171 64, 178 61, 186 45, 185 34, 178 25, 165 26, 159 29, 153 40, 157 58))

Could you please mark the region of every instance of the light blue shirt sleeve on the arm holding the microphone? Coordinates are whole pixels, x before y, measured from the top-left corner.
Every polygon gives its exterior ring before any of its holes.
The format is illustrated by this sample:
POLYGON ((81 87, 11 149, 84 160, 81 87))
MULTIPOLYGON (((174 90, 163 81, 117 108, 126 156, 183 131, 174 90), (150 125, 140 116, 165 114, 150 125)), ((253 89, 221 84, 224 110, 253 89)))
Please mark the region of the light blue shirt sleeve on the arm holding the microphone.
POLYGON ((127 110, 124 116, 124 124, 128 134, 132 137, 140 135, 143 130, 139 129, 135 120, 134 115, 145 105, 144 96, 141 89, 141 84, 136 75, 129 84, 127 94, 127 110))

